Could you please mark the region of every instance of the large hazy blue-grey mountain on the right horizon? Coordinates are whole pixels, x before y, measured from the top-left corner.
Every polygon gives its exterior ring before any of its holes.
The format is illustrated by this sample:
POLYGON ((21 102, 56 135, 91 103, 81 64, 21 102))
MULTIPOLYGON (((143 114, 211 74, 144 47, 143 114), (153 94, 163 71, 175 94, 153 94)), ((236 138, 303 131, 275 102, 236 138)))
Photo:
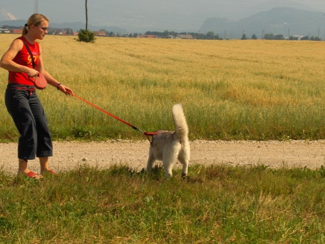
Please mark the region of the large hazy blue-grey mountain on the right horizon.
POLYGON ((213 31, 227 38, 241 38, 243 34, 258 38, 264 33, 282 34, 283 36, 311 35, 324 37, 325 15, 321 12, 299 10, 295 8, 274 8, 259 12, 238 21, 226 18, 209 18, 200 28, 201 33, 213 31))

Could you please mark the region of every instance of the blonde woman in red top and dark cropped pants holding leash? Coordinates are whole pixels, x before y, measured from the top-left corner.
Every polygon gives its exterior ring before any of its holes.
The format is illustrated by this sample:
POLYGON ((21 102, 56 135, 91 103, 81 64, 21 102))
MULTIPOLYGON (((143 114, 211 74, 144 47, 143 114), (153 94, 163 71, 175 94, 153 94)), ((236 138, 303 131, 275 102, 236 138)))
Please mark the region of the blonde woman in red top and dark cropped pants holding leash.
POLYGON ((18 142, 18 174, 29 178, 41 178, 49 169, 48 157, 52 156, 52 140, 42 104, 36 94, 34 78, 43 74, 48 84, 66 95, 72 90, 53 78, 43 66, 42 49, 36 42, 47 34, 49 20, 41 14, 33 14, 25 24, 22 36, 15 39, 0 61, 0 67, 9 71, 5 95, 6 107, 20 133, 18 142), (26 46, 28 45, 29 51, 26 46), (33 62, 29 53, 32 53, 33 62), (28 160, 39 157, 41 175, 28 169, 28 160))

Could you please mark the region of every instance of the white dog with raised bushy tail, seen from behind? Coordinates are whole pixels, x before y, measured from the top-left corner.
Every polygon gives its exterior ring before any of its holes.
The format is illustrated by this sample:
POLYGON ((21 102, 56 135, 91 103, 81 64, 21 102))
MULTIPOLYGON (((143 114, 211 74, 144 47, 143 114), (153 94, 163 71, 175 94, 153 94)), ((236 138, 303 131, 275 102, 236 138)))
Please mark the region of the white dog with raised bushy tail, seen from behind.
POLYGON ((156 160, 163 161, 166 177, 172 177, 172 169, 178 159, 182 165, 182 178, 187 176, 189 162, 188 126, 181 104, 175 104, 172 110, 175 124, 173 131, 156 131, 149 150, 147 170, 150 170, 156 160))

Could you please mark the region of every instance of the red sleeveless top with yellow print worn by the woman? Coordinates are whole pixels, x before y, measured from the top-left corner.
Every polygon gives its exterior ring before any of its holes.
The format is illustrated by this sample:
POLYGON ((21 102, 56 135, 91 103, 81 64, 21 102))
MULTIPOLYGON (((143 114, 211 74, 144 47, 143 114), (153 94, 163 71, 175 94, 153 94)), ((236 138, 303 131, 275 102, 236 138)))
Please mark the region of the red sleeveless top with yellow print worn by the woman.
MULTIPOLYGON (((28 43, 27 39, 24 36, 20 36, 19 38, 23 38, 25 40, 25 42, 28 45, 30 52, 34 58, 35 66, 37 66, 40 63, 40 61, 39 61, 39 54, 40 54, 39 44, 37 42, 35 42, 35 44, 28 43)), ((21 40, 21 42, 22 42, 22 40, 21 40)), ((13 61, 17 64, 32 68, 31 58, 30 58, 30 55, 29 55, 24 43, 23 43, 21 51, 17 53, 17 55, 13 59, 13 61)), ((33 86, 34 85, 33 81, 34 81, 34 78, 29 77, 24 72, 9 71, 9 83, 33 86)))

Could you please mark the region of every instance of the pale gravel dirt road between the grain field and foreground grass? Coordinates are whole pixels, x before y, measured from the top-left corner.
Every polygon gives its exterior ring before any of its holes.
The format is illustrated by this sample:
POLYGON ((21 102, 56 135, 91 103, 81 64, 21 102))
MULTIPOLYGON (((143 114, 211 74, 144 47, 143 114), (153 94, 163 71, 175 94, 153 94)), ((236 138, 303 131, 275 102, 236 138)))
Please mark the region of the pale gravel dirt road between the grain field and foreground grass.
MULTIPOLYGON (((107 142, 53 142, 50 166, 59 172, 88 164, 109 167, 127 163, 133 168, 146 167, 149 142, 115 140, 107 142)), ((190 142, 191 164, 263 164, 270 168, 325 166, 325 140, 320 141, 204 141, 190 142)), ((0 167, 15 174, 18 168, 17 143, 0 143, 0 167)), ((179 166, 180 164, 178 164, 179 166)), ((39 172, 37 159, 29 160, 29 168, 39 172)), ((190 168, 189 168, 190 174, 190 168)))

